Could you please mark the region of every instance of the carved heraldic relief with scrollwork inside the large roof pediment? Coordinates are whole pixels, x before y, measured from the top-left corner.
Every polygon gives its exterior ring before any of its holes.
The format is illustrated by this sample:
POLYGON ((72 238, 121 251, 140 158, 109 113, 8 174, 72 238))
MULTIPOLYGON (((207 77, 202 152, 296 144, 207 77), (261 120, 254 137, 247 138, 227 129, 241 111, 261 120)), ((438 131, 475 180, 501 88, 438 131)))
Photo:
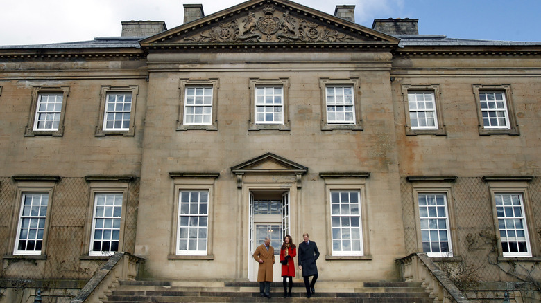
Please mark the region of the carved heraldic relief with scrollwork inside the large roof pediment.
MULTIPOLYGON (((267 6, 264 15, 257 18, 255 12, 248 12, 243 19, 225 22, 220 26, 184 38, 187 42, 345 42, 351 37, 329 30, 325 26, 298 19, 284 12, 276 17, 275 9, 267 6)), ((260 13, 260 12, 257 12, 260 13)), ((279 13, 278 13, 279 14, 279 13)))

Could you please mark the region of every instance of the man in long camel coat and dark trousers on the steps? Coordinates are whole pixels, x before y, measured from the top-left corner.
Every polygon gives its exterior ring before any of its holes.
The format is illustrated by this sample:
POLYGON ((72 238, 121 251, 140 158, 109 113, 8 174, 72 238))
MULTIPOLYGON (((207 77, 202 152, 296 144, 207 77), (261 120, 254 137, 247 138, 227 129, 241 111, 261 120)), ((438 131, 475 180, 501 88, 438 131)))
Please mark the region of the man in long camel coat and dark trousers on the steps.
POLYGON ((273 282, 274 248, 271 239, 265 238, 260 246, 257 246, 254 255, 259 263, 257 270, 257 282, 259 282, 259 295, 271 299, 271 282, 273 282))

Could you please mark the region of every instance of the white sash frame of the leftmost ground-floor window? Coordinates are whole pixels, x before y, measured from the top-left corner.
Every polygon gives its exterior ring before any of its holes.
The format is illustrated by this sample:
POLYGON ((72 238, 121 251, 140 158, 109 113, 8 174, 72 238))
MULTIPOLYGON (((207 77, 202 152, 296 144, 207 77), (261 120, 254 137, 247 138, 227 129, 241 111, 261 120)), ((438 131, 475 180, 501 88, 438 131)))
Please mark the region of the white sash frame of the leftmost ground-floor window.
MULTIPOLYGON (((46 232, 46 221, 47 221, 47 212, 49 212, 49 208, 50 208, 50 205, 51 205, 51 195, 49 192, 28 192, 28 191, 24 191, 22 192, 22 199, 21 199, 21 204, 20 204, 20 208, 19 208, 19 216, 18 216, 18 220, 17 220, 17 234, 16 234, 16 237, 15 237, 15 248, 13 249, 13 255, 41 255, 42 254, 42 251, 44 249, 44 241, 45 241, 45 232, 46 232), (30 196, 30 195, 41 195, 41 196, 44 196, 46 195, 46 206, 45 206, 45 209, 42 202, 43 202, 43 199, 40 198, 40 203, 39 204, 36 204, 34 199, 32 199, 31 201, 31 206, 29 208, 27 208, 27 204, 25 204, 25 201, 26 201, 26 198, 27 196, 30 196), (35 206, 35 205, 40 205, 40 206, 35 206), (29 212, 28 214, 24 214, 25 210, 28 210, 29 209, 29 212), (37 210, 37 214, 35 215, 32 215, 31 214, 31 211, 33 210, 37 210), (26 219, 30 219, 30 221, 28 222, 28 224, 26 224, 26 226, 22 226, 23 222, 26 220, 26 219), (37 223, 36 224, 33 224, 33 222, 36 222, 35 220, 37 220, 37 223), (35 226, 33 226, 35 225, 35 226), (20 236, 22 235, 22 229, 27 229, 28 228, 28 232, 27 232, 27 235, 26 235, 26 239, 30 239, 30 237, 28 237, 29 233, 32 231, 32 230, 35 230, 35 233, 36 235, 33 236, 34 239, 37 241, 38 239, 40 239, 42 241, 42 244, 40 246, 40 250, 19 250, 19 241, 22 241, 20 239, 20 236), (39 236, 40 234, 40 231, 41 231, 41 237, 39 236)), ((31 240, 28 240, 28 241, 31 241, 31 240)), ((36 244, 35 244, 36 246, 36 244)))

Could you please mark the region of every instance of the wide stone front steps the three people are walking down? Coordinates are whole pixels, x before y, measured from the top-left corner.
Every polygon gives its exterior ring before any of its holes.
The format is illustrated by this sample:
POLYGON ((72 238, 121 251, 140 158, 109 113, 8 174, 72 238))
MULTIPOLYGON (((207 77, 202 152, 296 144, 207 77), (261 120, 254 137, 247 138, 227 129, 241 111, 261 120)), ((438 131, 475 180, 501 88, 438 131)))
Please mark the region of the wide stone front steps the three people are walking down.
POLYGON ((103 302, 344 302, 431 303, 420 283, 317 282, 308 299, 302 282, 293 283, 291 298, 284 298, 282 282, 271 285, 271 299, 259 297, 257 282, 121 281, 103 302))

